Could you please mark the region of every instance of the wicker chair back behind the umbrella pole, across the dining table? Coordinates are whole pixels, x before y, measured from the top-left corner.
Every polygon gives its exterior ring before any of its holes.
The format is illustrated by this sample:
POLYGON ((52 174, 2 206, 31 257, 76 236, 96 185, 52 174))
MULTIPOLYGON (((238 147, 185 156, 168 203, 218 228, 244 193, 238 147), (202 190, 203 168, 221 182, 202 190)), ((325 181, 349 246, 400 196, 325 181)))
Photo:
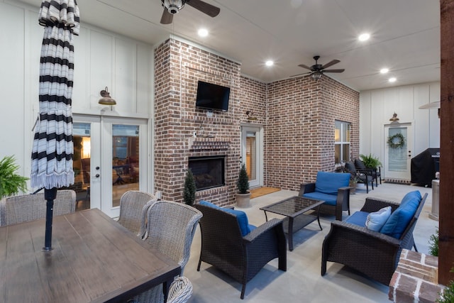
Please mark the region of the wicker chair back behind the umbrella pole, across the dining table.
MULTIPOLYGON (((47 201, 44 192, 6 197, 0 202, 0 226, 44 219, 47 201)), ((71 189, 57 191, 53 215, 70 214, 76 211, 76 192, 71 189)))

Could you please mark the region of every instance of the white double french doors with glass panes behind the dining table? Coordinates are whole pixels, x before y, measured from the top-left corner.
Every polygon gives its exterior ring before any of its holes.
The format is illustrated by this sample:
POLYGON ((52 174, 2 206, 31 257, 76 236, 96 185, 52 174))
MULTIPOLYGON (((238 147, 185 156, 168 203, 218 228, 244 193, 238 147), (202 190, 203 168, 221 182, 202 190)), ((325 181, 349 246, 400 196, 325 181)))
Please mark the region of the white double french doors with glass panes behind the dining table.
POLYGON ((74 115, 77 210, 116 217, 124 192, 146 191, 147 132, 145 119, 74 115))

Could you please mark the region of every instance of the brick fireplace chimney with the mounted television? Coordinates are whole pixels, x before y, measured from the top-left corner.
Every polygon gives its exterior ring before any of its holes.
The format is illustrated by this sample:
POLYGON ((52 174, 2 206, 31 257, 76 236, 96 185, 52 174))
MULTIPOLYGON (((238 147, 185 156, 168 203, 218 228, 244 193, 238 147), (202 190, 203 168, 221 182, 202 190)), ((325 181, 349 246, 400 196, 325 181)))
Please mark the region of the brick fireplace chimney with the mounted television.
POLYGON ((226 155, 226 186, 196 193, 196 199, 234 203, 240 163, 240 65, 178 40, 155 50, 155 190, 182 202, 188 158, 226 155), (227 112, 196 109, 197 81, 231 88, 227 112), (198 137, 194 138, 194 132, 198 137))

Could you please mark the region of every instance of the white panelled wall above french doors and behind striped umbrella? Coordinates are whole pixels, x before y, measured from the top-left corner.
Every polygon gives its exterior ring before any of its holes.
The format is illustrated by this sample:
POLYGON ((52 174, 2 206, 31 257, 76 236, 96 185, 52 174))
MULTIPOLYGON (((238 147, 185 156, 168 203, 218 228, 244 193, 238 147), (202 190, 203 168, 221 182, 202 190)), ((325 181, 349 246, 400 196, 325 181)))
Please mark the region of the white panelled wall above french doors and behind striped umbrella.
MULTIPOLYGON (((21 175, 31 171, 33 123, 38 115, 43 27, 38 9, 0 1, 0 158, 15 155, 21 175)), ((151 119, 153 47, 82 23, 74 38, 74 114, 151 119), (109 87, 113 111, 98 104, 109 87)))

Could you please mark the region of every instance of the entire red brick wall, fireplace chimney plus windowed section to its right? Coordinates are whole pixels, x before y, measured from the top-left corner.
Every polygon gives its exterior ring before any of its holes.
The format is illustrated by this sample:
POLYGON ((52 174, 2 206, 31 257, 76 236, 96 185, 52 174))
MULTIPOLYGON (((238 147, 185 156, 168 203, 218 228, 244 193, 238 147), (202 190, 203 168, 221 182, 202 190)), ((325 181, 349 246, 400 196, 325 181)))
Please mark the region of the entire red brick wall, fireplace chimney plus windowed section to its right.
POLYGON ((317 171, 334 169, 335 119, 352 123, 351 153, 357 156, 358 92, 329 77, 265 84, 242 77, 238 62, 169 39, 155 50, 155 190, 182 202, 188 158, 226 155, 226 186, 199 191, 196 199, 233 204, 240 129, 248 123, 264 129, 265 186, 297 190, 317 171), (195 108, 199 79, 231 88, 227 112, 209 117, 195 108), (257 120, 248 121, 246 111, 257 120))

